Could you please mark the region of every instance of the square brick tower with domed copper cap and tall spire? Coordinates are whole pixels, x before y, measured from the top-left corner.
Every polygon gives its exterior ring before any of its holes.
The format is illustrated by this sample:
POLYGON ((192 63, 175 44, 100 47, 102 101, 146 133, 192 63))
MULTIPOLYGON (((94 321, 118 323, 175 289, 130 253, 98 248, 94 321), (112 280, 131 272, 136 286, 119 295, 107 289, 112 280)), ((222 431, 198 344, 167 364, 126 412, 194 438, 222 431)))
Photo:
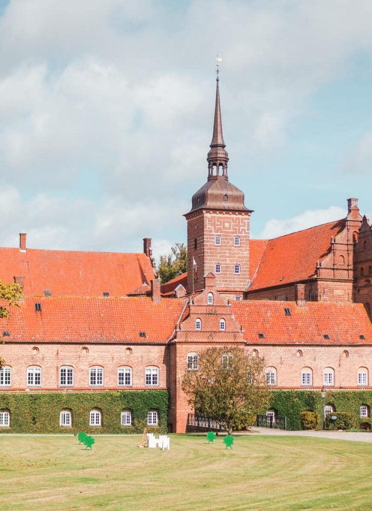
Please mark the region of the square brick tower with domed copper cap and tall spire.
POLYGON ((227 175, 228 154, 222 134, 219 78, 207 182, 192 198, 188 222, 188 291, 201 291, 204 276, 216 276, 225 296, 243 297, 249 276, 249 217, 244 193, 227 175))

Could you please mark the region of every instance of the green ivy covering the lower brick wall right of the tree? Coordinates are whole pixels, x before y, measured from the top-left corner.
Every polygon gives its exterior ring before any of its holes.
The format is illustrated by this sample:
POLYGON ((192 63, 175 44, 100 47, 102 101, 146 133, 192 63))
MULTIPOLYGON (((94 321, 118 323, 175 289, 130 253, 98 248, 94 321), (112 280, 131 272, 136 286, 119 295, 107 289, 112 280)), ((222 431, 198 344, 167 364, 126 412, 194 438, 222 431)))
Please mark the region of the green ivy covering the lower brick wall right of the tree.
MULTIPOLYGON (((360 406, 368 405, 372 412, 372 390, 328 390, 324 403, 333 405, 335 412, 354 413, 359 424, 371 422, 370 417, 360 417, 360 406)), ((287 417, 289 430, 301 429, 299 417, 302 411, 323 415, 323 401, 317 390, 274 390, 270 406, 278 415, 287 417)), ((322 428, 322 421, 318 428, 322 428)))

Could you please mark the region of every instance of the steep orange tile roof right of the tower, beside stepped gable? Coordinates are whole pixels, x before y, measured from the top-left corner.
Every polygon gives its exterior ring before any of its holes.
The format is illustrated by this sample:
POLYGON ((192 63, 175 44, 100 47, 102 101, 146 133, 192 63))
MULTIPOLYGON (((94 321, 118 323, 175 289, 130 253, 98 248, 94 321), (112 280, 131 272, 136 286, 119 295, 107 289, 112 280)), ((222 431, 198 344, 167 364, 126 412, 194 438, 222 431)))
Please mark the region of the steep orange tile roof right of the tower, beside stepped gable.
POLYGON ((331 237, 344 227, 342 219, 269 240, 248 292, 312 277, 331 249, 331 237))

